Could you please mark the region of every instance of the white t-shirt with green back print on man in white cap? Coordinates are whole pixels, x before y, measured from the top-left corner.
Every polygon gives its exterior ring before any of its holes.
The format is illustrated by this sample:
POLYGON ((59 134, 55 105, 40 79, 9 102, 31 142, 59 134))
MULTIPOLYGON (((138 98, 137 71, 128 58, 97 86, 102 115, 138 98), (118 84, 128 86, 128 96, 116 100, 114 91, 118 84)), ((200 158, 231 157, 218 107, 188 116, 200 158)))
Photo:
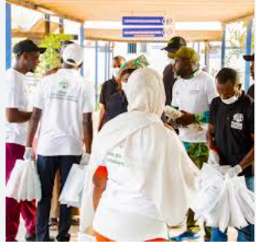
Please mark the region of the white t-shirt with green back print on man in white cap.
POLYGON ((61 69, 43 78, 33 106, 42 110, 37 154, 83 154, 83 114, 94 111, 94 95, 79 71, 61 69))

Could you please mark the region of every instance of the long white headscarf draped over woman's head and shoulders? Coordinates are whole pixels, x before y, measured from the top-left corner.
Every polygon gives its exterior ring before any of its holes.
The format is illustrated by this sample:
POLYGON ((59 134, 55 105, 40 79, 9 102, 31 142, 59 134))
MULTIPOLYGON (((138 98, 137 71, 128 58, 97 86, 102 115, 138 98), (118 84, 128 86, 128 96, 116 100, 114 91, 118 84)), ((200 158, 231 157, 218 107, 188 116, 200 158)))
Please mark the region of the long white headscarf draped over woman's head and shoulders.
MULTIPOLYGON (((125 160, 138 190, 146 193, 169 225, 180 223, 188 211, 198 173, 175 132, 160 117, 165 90, 157 71, 142 68, 128 80, 128 112, 104 125, 94 140, 83 189, 80 234, 92 223, 92 177, 109 151, 126 140, 125 160)), ((144 213, 142 213, 143 215, 144 213)), ((128 230, 127 230, 128 231, 128 230)))

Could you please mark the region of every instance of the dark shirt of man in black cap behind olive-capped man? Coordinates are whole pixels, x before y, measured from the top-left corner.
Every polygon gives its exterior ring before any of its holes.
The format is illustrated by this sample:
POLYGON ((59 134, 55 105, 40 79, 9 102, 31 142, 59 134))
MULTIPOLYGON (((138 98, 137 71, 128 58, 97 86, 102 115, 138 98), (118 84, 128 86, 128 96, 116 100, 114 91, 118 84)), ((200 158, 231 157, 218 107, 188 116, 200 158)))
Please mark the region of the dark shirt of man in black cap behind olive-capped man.
POLYGON ((166 101, 165 105, 171 105, 172 97, 173 97, 173 85, 176 82, 176 78, 174 78, 173 65, 169 64, 165 67, 163 82, 165 86, 165 96, 166 101))

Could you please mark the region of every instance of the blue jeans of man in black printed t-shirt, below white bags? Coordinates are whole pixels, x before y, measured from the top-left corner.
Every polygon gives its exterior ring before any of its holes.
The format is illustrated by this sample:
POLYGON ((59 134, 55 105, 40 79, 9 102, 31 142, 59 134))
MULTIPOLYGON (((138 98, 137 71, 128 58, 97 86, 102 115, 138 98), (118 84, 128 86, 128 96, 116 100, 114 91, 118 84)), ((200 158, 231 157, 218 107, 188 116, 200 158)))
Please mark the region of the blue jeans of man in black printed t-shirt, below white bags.
MULTIPOLYGON (((246 186, 254 193, 254 177, 246 177, 246 186)), ((250 224, 238 232, 238 242, 254 242, 254 225, 250 224)), ((223 233, 219 228, 212 228, 211 242, 227 242, 227 231, 223 233)))

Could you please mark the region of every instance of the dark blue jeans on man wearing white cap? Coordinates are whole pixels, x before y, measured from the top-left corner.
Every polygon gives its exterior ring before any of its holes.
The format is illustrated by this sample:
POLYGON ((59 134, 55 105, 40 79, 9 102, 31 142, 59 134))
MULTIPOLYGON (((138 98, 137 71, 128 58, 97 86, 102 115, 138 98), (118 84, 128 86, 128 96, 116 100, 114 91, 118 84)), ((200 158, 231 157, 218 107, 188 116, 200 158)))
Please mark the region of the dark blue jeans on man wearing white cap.
MULTIPOLYGON (((56 171, 60 170, 60 192, 67 180, 68 173, 74 163, 80 163, 80 156, 52 156, 38 155, 37 170, 41 181, 42 198, 37 204, 37 242, 49 241, 48 219, 51 210, 52 189, 56 171)), ((72 208, 60 204, 58 242, 68 242, 68 231, 72 222, 72 208)))

